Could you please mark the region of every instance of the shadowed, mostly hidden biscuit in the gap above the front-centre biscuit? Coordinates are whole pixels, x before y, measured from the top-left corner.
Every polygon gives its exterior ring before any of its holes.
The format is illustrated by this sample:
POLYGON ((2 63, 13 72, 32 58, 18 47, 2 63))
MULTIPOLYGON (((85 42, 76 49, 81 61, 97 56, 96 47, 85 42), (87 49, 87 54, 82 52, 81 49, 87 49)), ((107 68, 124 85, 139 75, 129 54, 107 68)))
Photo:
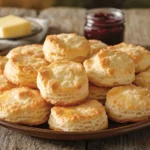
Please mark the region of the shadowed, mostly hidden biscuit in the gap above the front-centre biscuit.
POLYGON ((102 104, 105 104, 106 94, 111 88, 107 87, 98 87, 92 84, 89 84, 89 95, 87 99, 96 99, 102 104))

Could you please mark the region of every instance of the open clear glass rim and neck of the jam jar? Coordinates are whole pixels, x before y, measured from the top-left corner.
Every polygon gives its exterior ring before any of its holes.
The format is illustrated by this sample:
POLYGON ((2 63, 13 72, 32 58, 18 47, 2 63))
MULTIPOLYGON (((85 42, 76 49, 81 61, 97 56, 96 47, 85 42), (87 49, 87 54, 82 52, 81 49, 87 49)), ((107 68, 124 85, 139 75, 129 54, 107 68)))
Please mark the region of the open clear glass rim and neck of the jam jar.
POLYGON ((97 8, 89 10, 87 22, 99 26, 112 26, 124 23, 124 12, 116 8, 97 8))

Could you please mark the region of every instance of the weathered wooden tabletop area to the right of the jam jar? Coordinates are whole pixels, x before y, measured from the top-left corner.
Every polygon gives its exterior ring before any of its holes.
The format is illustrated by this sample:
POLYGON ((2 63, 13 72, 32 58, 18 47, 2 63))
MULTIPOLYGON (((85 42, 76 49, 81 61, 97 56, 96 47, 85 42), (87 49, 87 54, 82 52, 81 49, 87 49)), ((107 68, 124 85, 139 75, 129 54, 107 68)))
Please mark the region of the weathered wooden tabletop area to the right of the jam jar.
POLYGON ((129 9, 125 16, 125 41, 150 47, 150 9, 129 9))

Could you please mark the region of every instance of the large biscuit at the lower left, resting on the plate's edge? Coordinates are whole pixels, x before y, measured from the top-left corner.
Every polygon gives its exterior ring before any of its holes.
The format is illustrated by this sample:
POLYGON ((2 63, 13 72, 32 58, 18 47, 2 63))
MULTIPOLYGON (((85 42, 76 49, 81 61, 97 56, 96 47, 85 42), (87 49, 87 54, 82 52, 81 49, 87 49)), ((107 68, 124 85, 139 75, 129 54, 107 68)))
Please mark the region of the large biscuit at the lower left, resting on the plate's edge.
POLYGON ((38 90, 14 88, 0 95, 0 119, 25 125, 39 125, 48 121, 50 105, 38 90))

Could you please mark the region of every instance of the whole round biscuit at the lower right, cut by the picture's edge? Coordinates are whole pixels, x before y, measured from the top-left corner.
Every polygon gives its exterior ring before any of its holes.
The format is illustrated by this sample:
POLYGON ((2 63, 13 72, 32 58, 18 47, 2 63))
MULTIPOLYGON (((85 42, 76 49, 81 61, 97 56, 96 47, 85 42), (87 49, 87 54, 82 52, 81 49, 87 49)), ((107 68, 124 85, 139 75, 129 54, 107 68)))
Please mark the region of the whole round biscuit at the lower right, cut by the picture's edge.
POLYGON ((106 112, 117 122, 139 122, 150 118, 150 90, 134 85, 114 87, 107 93, 106 112))

